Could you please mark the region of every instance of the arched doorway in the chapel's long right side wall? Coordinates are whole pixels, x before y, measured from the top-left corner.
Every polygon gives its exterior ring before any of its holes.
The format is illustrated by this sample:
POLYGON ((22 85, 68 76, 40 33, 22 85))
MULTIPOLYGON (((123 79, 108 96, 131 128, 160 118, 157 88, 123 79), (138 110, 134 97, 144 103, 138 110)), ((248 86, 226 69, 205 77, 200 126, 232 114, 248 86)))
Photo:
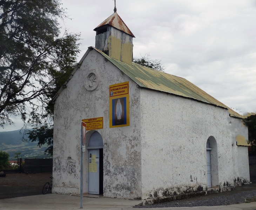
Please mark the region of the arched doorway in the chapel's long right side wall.
POLYGON ((206 163, 207 163, 207 188, 218 186, 218 151, 217 142, 213 136, 207 139, 206 143, 206 163))

